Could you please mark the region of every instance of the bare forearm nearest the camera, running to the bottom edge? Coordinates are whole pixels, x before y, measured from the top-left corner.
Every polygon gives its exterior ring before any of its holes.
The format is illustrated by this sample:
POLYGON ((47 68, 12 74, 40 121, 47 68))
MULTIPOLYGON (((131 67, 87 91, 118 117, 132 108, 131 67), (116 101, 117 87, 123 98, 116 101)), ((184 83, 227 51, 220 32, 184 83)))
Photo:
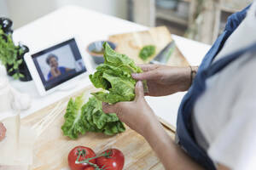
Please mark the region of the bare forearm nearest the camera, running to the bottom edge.
POLYGON ((143 136, 166 169, 203 169, 174 143, 160 122, 152 120, 148 123, 147 129, 148 132, 145 132, 143 136))

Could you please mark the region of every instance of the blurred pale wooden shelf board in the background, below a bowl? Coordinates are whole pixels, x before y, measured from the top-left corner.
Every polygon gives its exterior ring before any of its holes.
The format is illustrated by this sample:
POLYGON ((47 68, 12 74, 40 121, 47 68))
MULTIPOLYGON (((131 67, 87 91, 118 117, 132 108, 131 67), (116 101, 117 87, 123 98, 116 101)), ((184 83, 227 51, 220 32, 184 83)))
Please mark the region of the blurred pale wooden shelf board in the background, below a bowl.
POLYGON ((175 22, 182 26, 188 26, 188 24, 189 24, 188 18, 178 15, 172 9, 156 7, 155 15, 156 15, 156 18, 175 22))

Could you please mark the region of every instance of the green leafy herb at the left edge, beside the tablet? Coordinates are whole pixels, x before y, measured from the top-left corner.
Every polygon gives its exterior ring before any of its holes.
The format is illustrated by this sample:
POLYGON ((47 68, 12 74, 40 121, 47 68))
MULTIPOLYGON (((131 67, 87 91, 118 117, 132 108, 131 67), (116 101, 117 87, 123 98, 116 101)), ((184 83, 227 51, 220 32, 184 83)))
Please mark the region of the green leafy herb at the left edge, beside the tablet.
POLYGON ((5 67, 10 66, 9 72, 15 72, 12 76, 15 79, 24 77, 19 71, 19 66, 23 62, 23 59, 18 59, 18 56, 23 53, 23 50, 19 46, 15 46, 11 35, 5 34, 0 27, 0 60, 5 67))

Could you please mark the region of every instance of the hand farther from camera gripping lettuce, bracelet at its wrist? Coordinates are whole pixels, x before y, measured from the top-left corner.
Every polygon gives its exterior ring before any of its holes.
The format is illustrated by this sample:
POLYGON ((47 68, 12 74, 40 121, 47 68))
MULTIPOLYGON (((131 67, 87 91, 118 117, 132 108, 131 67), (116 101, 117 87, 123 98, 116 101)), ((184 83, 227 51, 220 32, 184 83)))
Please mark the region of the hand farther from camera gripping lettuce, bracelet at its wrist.
POLYGON ((183 92, 191 84, 189 67, 173 67, 167 65, 139 65, 143 73, 132 74, 136 80, 147 80, 149 96, 166 96, 183 92))

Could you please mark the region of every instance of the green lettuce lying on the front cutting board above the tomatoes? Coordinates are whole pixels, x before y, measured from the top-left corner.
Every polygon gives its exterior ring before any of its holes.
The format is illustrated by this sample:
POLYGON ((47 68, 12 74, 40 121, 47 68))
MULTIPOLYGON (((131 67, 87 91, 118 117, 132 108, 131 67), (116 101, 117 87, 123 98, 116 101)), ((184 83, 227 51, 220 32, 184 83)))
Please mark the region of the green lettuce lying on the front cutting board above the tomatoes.
POLYGON ((115 113, 106 114, 102 111, 102 102, 90 97, 84 103, 84 95, 70 99, 64 116, 65 122, 61 129, 65 136, 77 139, 79 134, 86 132, 113 135, 125 131, 125 126, 115 113))

